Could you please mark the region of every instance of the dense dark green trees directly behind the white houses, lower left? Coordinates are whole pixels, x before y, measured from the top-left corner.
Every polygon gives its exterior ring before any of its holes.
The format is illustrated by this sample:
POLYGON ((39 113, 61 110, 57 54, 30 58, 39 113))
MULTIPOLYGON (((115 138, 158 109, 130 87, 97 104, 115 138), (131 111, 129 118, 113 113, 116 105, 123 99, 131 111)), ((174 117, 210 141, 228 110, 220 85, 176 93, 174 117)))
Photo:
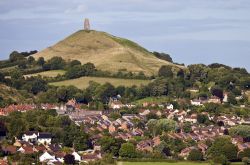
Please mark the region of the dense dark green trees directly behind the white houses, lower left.
POLYGON ((13 112, 2 116, 3 129, 6 129, 7 139, 21 137, 26 131, 49 132, 53 136, 53 143, 63 144, 78 150, 86 150, 92 145, 89 135, 82 131, 68 116, 57 116, 55 110, 33 110, 26 113, 13 112))

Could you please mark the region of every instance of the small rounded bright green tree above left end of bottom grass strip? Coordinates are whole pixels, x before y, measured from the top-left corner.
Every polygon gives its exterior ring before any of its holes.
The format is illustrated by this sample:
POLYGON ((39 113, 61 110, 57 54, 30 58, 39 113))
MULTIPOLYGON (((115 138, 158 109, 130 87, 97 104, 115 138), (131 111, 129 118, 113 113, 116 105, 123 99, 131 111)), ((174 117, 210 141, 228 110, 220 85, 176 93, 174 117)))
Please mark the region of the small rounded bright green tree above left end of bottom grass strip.
POLYGON ((136 150, 135 146, 132 143, 124 143, 122 144, 119 155, 123 158, 135 158, 136 150))

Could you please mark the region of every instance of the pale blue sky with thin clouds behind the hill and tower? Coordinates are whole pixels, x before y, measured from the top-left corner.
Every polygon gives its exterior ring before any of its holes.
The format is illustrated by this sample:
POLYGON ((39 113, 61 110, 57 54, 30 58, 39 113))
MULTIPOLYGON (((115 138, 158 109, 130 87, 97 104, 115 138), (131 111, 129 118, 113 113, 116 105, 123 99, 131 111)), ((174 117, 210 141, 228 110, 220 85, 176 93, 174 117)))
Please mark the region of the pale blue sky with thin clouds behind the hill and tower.
POLYGON ((0 0, 0 59, 51 46, 85 17, 179 63, 250 71, 250 0, 0 0))

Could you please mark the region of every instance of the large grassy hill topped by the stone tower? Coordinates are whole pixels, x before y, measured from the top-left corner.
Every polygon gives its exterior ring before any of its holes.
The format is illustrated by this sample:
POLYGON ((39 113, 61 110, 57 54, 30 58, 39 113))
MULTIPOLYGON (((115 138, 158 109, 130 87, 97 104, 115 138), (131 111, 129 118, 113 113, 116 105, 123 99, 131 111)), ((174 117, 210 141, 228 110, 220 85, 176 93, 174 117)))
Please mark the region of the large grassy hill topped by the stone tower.
MULTIPOLYGON (((65 60, 79 60, 82 64, 92 62, 104 71, 140 71, 156 74, 162 65, 174 65, 161 60, 140 45, 105 32, 80 30, 54 46, 34 55, 46 60, 60 56, 65 60)), ((178 66, 181 67, 181 66, 178 66)))

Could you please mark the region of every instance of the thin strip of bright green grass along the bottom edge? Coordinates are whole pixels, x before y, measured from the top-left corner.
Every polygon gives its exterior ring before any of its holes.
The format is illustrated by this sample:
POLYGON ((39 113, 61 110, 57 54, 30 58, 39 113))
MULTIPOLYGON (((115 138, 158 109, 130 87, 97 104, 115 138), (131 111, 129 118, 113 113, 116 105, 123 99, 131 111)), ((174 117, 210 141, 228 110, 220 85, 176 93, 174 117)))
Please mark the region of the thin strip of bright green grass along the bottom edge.
POLYGON ((118 162, 117 165, 209 165, 209 163, 196 163, 196 162, 118 162))

